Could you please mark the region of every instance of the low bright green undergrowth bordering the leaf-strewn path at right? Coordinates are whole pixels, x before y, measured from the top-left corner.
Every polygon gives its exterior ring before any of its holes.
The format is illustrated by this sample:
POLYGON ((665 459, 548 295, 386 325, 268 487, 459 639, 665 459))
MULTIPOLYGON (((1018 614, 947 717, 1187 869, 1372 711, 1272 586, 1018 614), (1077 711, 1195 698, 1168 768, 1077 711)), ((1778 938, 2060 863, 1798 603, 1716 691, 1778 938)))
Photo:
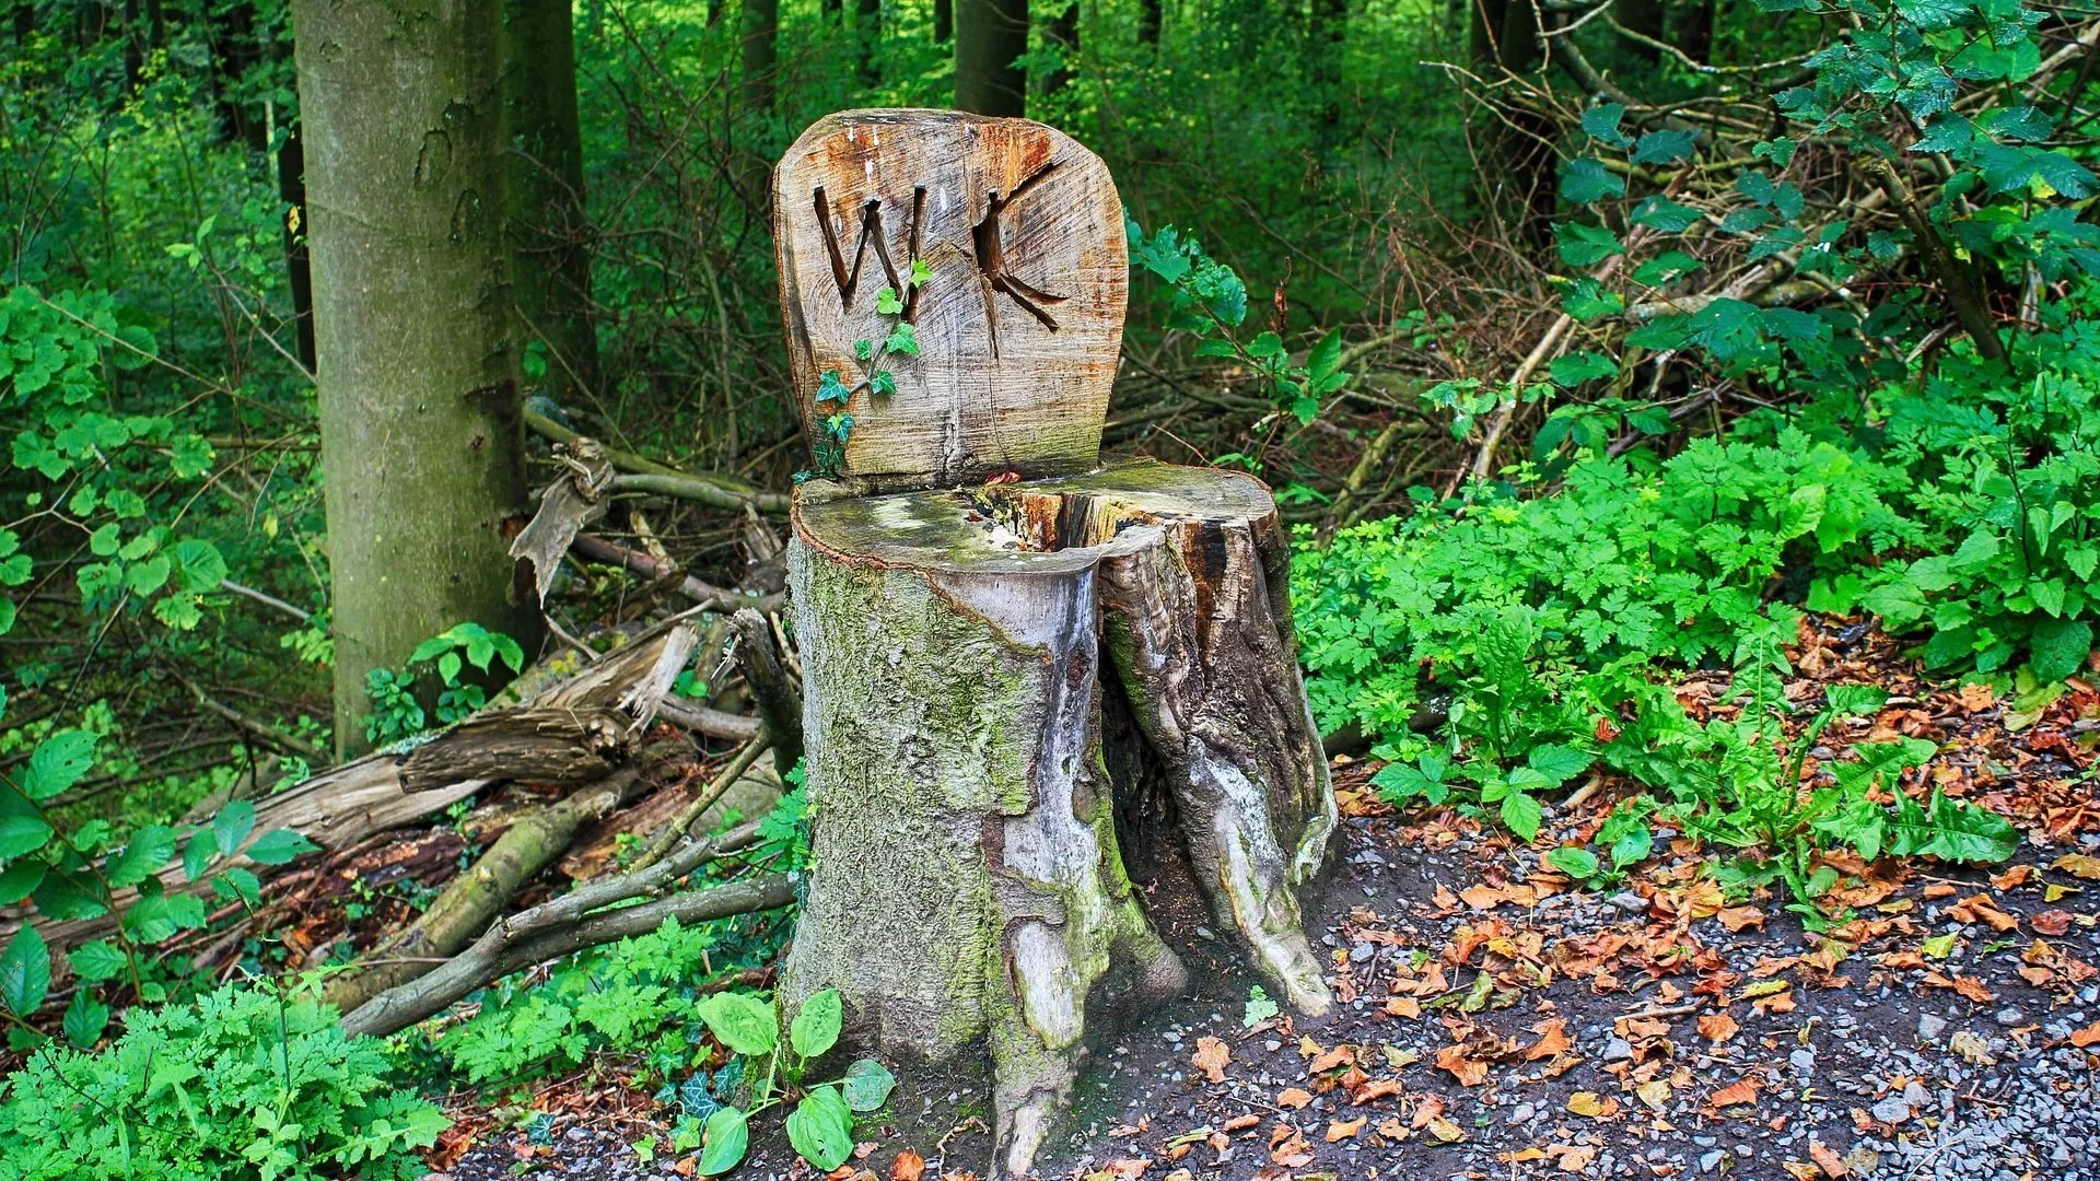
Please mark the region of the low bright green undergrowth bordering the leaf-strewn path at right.
MULTIPOLYGON (((1449 801, 1527 841, 1554 788, 1630 775, 1655 792, 1634 811, 1800 899, 1831 880, 1823 849, 2010 855, 2003 820, 1896 790, 1930 744, 1861 746, 1804 775, 1823 725, 1877 702, 1789 700, 1785 647, 1804 612, 1827 612, 1873 616, 1928 672, 2029 702, 2083 668, 2100 590, 2100 328, 2083 311, 2050 309, 2012 372, 1947 357, 1865 397, 1621 456, 1600 454, 1604 435, 1546 433, 1502 481, 1415 490, 1411 515, 1329 544, 1302 536, 1294 601, 1321 725, 1361 727, 1392 761, 1388 799, 1449 801), (1688 670, 1728 670, 1732 708, 1693 719, 1672 691, 1688 670)), ((1609 874, 1646 853, 1617 828, 1602 855, 1556 864, 1609 874)))

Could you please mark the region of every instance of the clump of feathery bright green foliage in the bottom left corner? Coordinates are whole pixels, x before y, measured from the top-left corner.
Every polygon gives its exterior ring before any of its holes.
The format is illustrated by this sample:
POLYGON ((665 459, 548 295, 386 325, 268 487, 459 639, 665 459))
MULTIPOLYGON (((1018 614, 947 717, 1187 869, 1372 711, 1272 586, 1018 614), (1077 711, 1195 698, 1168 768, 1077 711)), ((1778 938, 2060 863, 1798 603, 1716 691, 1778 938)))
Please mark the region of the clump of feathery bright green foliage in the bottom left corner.
POLYGON ((132 1011, 101 1053, 34 1053, 0 1089, 0 1179, 407 1179, 445 1126, 332 1009, 229 986, 132 1011))

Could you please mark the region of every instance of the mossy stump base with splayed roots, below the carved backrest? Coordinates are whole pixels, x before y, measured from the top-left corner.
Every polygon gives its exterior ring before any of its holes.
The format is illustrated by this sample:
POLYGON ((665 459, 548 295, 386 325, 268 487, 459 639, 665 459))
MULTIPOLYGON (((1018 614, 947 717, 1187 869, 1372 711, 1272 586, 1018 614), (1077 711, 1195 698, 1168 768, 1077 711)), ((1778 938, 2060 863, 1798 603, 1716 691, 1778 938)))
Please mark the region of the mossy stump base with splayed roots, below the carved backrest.
POLYGON ((1184 988, 1147 906, 1199 895, 1325 1011, 1298 887, 1334 796, 1268 494, 1149 460, 836 490, 804 485, 790 557, 815 853, 788 1000, 838 988, 897 1055, 989 1044, 995 1177, 1069 1097, 1096 986, 1184 988), (1144 864, 1180 868, 1140 891, 1144 864))

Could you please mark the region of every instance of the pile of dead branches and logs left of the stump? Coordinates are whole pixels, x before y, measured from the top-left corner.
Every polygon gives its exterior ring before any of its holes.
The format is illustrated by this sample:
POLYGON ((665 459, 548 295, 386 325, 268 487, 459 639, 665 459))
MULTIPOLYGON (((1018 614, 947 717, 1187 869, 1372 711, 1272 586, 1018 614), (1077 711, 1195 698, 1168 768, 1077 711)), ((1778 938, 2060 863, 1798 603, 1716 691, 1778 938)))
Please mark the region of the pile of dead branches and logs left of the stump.
MULTIPOLYGON (((592 439, 556 446, 556 462, 561 477, 542 494, 512 557, 521 590, 548 609, 563 645, 475 717, 256 801, 258 832, 292 828, 323 855, 267 880, 260 906, 225 906, 210 927, 158 954, 231 973, 239 948, 296 918, 304 899, 340 897, 359 878, 351 855, 393 843, 416 862, 416 845, 388 834, 500 784, 531 786, 523 807, 491 824, 500 836, 420 914, 397 914, 397 927, 346 967, 330 969, 323 990, 346 1030, 403 1030, 504 975, 655 931, 668 918, 701 923, 794 904, 790 876, 754 855, 760 822, 783 792, 781 773, 802 757, 796 658, 779 622, 783 551, 762 517, 779 509, 777 498, 668 469, 622 473, 592 439), (586 532, 622 492, 743 509, 748 584, 712 586, 666 557, 586 532), (546 597, 565 563, 640 574, 647 582, 638 609, 601 628, 596 643, 575 639, 546 597), (716 687, 714 706, 672 693, 687 670, 716 687), (512 910, 580 834, 613 815, 649 824, 628 832, 613 872, 512 910)), ((441 847, 437 859, 468 849, 456 836, 441 847)), ((443 868, 424 866, 430 876, 443 876, 443 868)), ((166 866, 160 885, 197 889, 181 864, 166 866)), ((55 950, 65 950, 105 935, 111 923, 101 916, 40 929, 55 950)), ((59 983, 55 1000, 69 994, 59 983)))

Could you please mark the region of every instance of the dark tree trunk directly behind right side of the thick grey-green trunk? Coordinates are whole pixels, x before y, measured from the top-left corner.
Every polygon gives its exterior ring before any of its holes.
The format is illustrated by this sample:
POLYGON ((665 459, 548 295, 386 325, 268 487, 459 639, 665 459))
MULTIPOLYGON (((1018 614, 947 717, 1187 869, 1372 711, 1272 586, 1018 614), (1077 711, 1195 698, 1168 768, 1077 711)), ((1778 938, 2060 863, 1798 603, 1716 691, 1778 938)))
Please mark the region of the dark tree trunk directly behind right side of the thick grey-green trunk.
POLYGON ((569 0, 508 0, 502 53, 514 336, 546 349, 542 387, 569 406, 598 387, 569 0))

